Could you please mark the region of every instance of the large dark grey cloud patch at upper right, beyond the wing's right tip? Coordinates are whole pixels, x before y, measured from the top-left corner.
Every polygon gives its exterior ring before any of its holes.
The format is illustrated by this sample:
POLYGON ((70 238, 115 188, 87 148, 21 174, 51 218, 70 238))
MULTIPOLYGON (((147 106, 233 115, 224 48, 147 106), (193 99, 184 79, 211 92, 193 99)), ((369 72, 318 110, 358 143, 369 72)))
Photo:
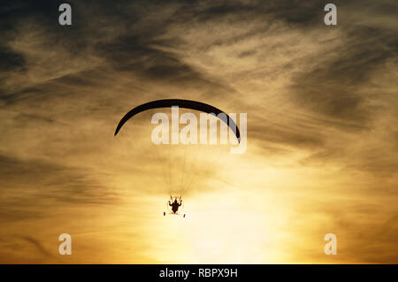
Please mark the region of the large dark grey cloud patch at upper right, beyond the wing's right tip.
POLYGON ((374 97, 361 90, 397 56, 398 42, 394 30, 366 25, 349 26, 341 36, 343 43, 332 50, 339 55, 327 59, 328 53, 314 54, 311 60, 321 64, 296 74, 291 96, 312 111, 366 126, 380 108, 369 106, 374 97))

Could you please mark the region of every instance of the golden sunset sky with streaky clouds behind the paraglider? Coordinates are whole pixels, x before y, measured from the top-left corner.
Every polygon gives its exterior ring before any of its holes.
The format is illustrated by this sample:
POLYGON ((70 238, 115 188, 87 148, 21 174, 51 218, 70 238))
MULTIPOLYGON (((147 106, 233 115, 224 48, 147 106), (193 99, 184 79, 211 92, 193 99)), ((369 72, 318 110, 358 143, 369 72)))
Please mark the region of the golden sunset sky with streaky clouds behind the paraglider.
POLYGON ((396 1, 68 3, 0 4, 0 263, 398 263, 396 1), (246 152, 113 136, 166 98, 247 113, 246 152))

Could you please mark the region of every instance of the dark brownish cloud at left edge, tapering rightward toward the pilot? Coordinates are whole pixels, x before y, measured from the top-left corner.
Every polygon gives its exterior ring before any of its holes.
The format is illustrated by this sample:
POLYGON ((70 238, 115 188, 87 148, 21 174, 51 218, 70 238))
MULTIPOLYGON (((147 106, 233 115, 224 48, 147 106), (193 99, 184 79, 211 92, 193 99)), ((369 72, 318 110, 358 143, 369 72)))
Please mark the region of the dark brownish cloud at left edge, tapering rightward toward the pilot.
POLYGON ((111 187, 103 187, 89 173, 77 168, 10 156, 0 156, 0 164, 2 193, 15 193, 13 197, 4 197, 3 209, 32 207, 38 199, 77 204, 112 204, 119 201, 119 195, 112 192, 111 187))

